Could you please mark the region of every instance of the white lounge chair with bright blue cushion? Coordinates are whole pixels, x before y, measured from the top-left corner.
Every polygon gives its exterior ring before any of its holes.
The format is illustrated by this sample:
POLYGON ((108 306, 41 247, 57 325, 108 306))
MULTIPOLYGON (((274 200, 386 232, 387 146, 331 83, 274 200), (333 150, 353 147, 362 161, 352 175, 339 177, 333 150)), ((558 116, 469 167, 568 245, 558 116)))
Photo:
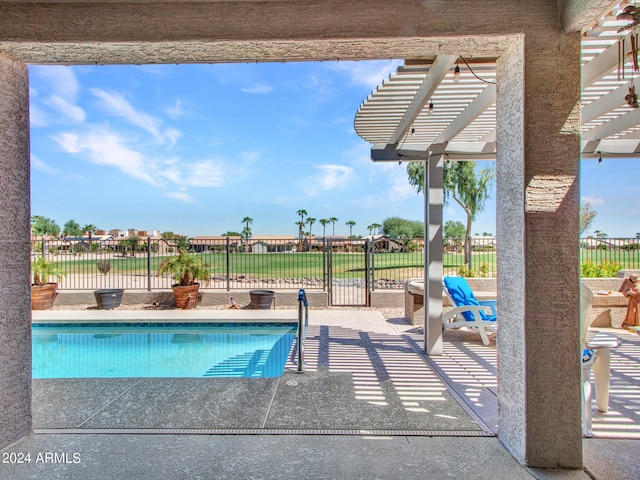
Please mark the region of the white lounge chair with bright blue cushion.
POLYGON ((489 334, 497 331, 496 301, 478 301, 463 277, 444 277, 442 286, 454 306, 442 314, 443 328, 477 329, 482 343, 489 345, 489 334))

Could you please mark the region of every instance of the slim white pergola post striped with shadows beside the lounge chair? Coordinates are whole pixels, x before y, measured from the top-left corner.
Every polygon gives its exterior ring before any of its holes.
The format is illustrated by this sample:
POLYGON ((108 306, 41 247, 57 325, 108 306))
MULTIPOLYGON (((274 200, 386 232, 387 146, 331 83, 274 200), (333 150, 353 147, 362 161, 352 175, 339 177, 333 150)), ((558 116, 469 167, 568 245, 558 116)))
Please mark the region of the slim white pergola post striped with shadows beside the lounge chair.
POLYGON ((430 151, 424 176, 424 349, 429 355, 442 355, 443 157, 430 151))

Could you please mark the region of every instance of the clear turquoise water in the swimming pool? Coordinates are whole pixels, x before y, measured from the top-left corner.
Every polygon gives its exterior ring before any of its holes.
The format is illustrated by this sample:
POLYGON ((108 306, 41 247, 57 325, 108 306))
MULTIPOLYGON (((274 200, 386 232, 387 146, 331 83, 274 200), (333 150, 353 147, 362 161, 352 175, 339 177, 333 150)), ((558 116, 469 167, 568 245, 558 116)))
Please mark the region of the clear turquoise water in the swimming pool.
POLYGON ((37 324, 33 378, 280 377, 292 324, 37 324))

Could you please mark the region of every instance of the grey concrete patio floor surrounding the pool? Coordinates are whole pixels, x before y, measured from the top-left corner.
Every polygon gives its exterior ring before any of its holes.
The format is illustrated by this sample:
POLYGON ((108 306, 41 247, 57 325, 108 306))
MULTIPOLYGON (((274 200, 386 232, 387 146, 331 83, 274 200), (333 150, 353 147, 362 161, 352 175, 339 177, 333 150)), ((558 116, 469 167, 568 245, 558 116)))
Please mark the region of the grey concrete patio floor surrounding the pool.
MULTIPOLYGON (((87 313, 34 317, 86 321, 87 313)), ((109 313, 142 314, 175 317, 109 313)), ((263 320, 295 315, 258 312, 263 320)), ((640 337, 617 332, 611 410, 594 409, 594 438, 584 441, 591 478, 640 477, 640 337)), ((446 335, 445 355, 427 357, 420 330, 403 319, 318 310, 310 312, 304 374, 290 359, 277 379, 35 379, 35 432, 3 450, 30 453, 31 463, 2 463, 0 478, 589 478, 527 469, 511 457, 494 435, 495 344, 471 332, 446 335)))

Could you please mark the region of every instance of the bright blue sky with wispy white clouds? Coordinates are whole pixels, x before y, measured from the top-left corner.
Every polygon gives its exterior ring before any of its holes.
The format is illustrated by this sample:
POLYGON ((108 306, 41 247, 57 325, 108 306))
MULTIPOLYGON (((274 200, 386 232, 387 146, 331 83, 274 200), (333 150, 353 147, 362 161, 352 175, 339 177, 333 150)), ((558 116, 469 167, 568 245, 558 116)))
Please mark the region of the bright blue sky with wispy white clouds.
MULTIPOLYGON (((190 236, 241 231, 247 216, 254 235, 296 235, 300 209, 337 217, 336 235, 348 220, 356 235, 422 220, 405 165, 371 162, 353 130, 399 63, 32 66, 32 214, 190 236)), ((591 230, 640 232, 634 164, 584 163, 591 230)), ((465 218, 452 204, 445 220, 465 218)), ((495 189, 473 232, 495 233, 495 189)))

